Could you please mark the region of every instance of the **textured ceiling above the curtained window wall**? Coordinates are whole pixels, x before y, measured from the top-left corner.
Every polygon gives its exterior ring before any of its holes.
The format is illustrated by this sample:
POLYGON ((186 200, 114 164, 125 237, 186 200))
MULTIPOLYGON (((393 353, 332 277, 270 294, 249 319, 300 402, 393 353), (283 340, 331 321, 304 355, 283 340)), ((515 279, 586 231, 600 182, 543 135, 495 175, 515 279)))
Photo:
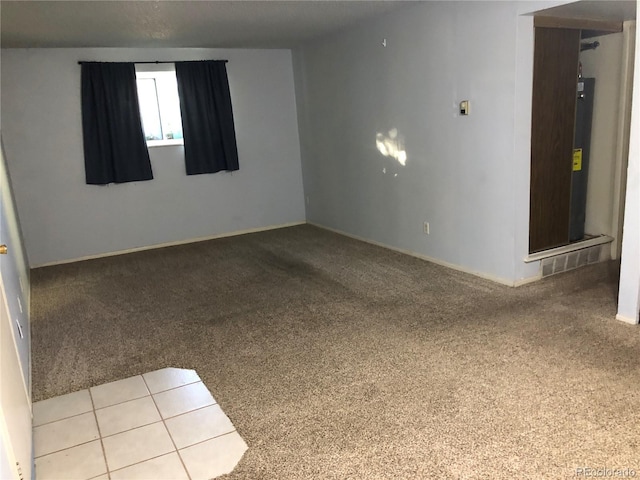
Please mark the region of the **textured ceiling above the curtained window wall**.
POLYGON ((403 1, 2 1, 3 48, 291 48, 403 1))

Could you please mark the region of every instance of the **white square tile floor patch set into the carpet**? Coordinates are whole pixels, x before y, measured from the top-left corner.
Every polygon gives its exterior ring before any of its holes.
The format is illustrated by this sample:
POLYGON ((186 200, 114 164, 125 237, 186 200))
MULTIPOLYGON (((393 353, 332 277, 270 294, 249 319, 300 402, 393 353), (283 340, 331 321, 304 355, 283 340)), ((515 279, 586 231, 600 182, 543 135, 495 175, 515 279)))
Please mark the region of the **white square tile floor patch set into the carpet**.
POLYGON ((193 370, 165 368, 33 405, 36 480, 208 480, 244 440, 193 370))

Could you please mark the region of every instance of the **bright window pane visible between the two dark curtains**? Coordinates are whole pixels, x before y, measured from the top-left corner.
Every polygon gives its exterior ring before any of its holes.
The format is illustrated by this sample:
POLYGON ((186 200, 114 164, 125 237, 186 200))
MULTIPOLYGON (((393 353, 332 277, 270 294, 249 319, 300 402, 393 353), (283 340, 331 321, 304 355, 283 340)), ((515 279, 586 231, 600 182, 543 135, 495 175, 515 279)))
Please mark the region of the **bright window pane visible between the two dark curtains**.
POLYGON ((182 145, 182 119, 173 64, 136 65, 142 128, 147 146, 182 145))

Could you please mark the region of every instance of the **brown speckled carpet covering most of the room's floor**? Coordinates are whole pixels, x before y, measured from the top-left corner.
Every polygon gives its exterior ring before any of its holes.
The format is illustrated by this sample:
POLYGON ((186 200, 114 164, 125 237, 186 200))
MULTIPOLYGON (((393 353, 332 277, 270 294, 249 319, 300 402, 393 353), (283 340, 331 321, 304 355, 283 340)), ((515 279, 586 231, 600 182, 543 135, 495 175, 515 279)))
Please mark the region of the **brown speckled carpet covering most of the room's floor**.
POLYGON ((640 476, 615 271, 514 289, 311 226, 37 269, 33 396, 193 368, 230 478, 640 476))

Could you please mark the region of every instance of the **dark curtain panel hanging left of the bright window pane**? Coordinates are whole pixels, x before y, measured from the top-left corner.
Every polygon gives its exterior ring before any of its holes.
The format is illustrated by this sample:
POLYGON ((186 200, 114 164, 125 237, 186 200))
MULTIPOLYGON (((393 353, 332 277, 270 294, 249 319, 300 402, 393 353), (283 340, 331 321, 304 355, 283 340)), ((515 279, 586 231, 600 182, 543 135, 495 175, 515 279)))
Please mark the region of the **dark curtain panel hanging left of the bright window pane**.
POLYGON ((88 184, 153 178, 133 63, 82 63, 82 133, 88 184))

